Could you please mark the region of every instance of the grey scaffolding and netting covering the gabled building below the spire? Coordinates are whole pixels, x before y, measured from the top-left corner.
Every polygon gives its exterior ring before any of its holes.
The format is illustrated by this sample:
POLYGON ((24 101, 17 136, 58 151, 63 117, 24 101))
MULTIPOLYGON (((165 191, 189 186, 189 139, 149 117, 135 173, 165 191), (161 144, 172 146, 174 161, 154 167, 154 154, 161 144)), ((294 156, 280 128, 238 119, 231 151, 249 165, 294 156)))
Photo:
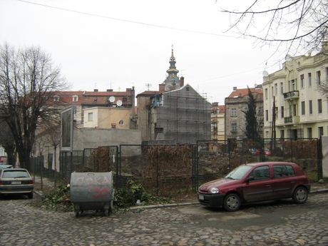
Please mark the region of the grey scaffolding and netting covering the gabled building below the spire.
POLYGON ((153 101, 153 107, 153 139, 176 140, 177 143, 210 139, 211 105, 193 88, 163 93, 153 101))

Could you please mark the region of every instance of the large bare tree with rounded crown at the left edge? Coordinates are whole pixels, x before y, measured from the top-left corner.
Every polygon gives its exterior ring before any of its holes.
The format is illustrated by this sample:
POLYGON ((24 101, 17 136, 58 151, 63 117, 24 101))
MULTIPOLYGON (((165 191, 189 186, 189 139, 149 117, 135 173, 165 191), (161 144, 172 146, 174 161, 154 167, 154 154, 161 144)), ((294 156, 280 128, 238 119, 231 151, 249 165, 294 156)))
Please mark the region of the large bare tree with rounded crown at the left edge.
POLYGON ((36 128, 56 119, 58 111, 51 100, 64 88, 60 69, 39 47, 0 46, 1 117, 14 137, 21 167, 29 167, 36 128))

